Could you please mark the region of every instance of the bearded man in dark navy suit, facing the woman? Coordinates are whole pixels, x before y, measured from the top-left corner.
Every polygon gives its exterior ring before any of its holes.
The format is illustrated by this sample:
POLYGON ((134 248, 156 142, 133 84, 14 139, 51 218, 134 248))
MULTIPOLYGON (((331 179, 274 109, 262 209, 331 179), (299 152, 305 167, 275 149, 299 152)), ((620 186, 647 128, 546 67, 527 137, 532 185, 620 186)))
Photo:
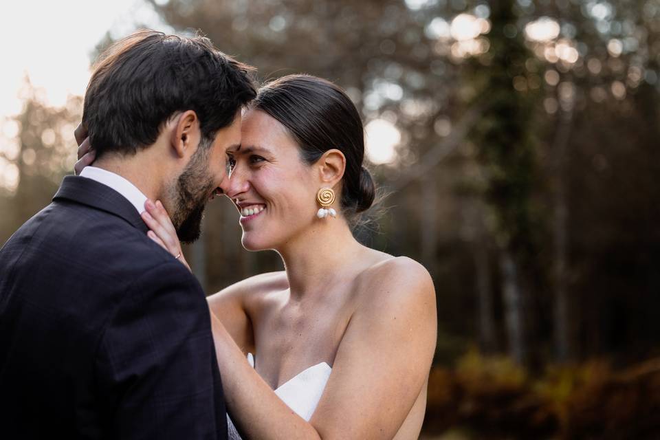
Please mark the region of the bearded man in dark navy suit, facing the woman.
POLYGON ((181 240, 199 236, 249 71, 152 31, 103 54, 83 111, 94 166, 0 250, 0 438, 226 438, 204 294, 140 214, 162 200, 181 240))

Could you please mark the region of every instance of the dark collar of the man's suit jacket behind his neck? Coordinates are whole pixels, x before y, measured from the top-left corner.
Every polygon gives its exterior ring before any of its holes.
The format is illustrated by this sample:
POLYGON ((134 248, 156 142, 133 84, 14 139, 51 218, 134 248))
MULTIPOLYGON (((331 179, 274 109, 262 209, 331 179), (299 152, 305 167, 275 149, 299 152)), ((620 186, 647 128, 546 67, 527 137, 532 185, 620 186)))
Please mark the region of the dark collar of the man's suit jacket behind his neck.
POLYGON ((144 233, 148 231, 140 214, 135 210, 135 206, 126 197, 96 180, 80 176, 66 176, 53 197, 53 201, 58 199, 75 201, 108 212, 124 219, 144 233))

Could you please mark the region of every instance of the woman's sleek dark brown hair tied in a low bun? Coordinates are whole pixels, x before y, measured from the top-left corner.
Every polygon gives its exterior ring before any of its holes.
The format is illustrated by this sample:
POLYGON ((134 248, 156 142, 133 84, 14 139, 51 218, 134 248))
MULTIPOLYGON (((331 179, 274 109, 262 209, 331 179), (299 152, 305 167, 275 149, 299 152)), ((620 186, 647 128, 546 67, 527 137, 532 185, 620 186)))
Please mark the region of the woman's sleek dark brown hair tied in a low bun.
POLYGON ((354 213, 371 207, 375 186, 362 166, 364 127, 358 109, 340 87, 316 76, 284 76, 261 87, 252 108, 283 124, 308 164, 331 148, 344 153, 341 206, 354 213))

